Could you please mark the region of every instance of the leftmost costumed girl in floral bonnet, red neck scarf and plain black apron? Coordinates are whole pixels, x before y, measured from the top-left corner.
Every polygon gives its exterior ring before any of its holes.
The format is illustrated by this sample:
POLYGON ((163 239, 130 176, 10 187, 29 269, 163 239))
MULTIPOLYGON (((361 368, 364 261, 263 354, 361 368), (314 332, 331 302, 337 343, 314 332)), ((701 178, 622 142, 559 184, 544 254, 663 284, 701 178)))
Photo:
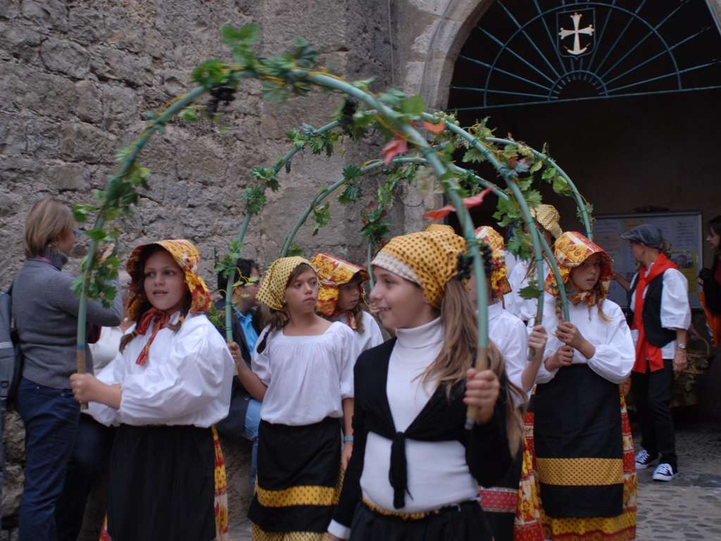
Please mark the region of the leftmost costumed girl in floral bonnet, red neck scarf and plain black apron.
POLYGON ((136 325, 97 378, 71 377, 97 421, 120 425, 107 503, 113 541, 226 538, 225 470, 211 426, 228 412, 233 361, 205 317, 211 295, 199 261, 183 239, 133 250, 128 317, 136 325))

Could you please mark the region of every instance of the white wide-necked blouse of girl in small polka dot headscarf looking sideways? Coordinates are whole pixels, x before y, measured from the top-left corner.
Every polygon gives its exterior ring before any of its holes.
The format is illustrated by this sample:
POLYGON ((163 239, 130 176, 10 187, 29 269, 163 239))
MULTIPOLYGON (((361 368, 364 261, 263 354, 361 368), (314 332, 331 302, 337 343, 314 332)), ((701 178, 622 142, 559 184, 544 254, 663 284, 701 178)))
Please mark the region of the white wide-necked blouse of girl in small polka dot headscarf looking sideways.
MULTIPOLYGON (((268 327, 260 333, 262 343, 268 327)), ((260 418, 291 426, 342 417, 342 399, 353 398, 353 366, 360 350, 353 330, 333 322, 322 335, 268 334, 265 349, 256 351, 252 371, 267 391, 260 418)))

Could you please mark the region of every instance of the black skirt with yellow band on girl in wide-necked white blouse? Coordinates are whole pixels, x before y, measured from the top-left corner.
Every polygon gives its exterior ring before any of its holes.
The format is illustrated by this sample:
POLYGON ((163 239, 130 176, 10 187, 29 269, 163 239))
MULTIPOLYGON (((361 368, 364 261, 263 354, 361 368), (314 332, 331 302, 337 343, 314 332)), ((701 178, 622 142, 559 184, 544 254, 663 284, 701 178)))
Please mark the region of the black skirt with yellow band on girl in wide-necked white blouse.
POLYGON ((257 488, 248 511, 255 537, 322 537, 338 502, 339 475, 340 419, 304 426, 261 421, 257 488))

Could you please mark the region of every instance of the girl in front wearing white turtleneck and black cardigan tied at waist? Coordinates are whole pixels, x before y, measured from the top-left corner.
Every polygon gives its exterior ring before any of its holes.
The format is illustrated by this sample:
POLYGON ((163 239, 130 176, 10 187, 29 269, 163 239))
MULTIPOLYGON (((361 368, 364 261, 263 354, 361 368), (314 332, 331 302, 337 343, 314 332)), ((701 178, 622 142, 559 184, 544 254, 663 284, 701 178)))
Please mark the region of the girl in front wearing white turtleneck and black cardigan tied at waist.
POLYGON ((500 371, 471 368, 477 322, 465 251, 451 227, 433 225, 394 237, 373 259, 371 301, 396 337, 355 366, 355 449, 329 526, 337 538, 353 524, 361 540, 491 539, 478 485, 510 465, 508 401, 495 347, 500 371), (478 408, 471 431, 468 405, 478 408))

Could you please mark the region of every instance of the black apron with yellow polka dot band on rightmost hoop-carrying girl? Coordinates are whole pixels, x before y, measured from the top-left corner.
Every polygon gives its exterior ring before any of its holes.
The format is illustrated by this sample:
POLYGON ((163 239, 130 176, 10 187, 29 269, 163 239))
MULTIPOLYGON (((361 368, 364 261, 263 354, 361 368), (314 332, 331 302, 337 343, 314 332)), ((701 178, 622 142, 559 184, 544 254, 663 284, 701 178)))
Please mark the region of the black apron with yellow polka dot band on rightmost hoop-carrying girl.
POLYGON ((619 386, 587 364, 557 371, 536 387, 534 445, 547 516, 588 518, 623 512, 619 386))

